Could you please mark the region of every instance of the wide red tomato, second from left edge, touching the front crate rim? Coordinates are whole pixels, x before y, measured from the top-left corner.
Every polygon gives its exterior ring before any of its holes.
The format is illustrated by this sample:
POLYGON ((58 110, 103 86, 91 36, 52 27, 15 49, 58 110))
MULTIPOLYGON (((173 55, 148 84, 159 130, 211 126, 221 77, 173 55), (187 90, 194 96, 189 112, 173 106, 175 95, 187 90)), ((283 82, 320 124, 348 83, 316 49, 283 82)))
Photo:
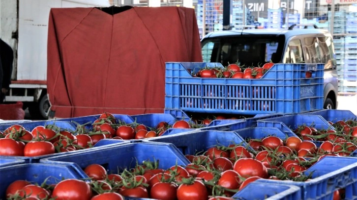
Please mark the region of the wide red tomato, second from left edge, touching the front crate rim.
POLYGON ((24 156, 40 156, 55 152, 55 146, 51 142, 31 141, 25 145, 24 156))

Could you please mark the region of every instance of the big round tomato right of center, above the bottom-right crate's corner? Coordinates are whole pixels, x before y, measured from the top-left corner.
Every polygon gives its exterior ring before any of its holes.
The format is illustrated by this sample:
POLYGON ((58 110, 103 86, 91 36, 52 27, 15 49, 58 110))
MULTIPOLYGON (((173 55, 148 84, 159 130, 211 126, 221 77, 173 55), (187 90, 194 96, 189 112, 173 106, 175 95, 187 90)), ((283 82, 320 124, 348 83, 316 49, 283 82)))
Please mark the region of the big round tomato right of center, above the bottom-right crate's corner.
POLYGON ((233 167, 234 171, 238 172, 244 178, 250 176, 259 176, 262 178, 268 178, 268 170, 262 162, 253 158, 240 158, 233 167))

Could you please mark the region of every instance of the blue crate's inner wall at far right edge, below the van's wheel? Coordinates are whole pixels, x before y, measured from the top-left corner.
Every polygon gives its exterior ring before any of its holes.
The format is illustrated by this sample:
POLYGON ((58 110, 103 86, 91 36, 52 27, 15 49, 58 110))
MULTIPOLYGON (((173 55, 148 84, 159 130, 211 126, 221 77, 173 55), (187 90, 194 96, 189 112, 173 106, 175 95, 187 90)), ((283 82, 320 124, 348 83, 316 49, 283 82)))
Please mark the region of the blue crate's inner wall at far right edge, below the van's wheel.
POLYGON ((319 110, 309 113, 304 113, 307 115, 319 115, 323 117, 326 121, 336 123, 337 121, 346 121, 346 120, 357 120, 357 116, 353 114, 350 110, 319 110))

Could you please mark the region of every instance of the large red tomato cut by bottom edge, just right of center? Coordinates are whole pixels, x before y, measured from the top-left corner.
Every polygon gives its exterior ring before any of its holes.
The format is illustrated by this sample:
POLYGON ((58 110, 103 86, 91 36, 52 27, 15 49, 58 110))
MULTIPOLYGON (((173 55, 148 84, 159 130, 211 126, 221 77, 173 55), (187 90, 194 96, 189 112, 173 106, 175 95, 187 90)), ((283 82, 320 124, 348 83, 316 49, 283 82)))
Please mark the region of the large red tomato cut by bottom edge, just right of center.
POLYGON ((199 180, 193 184, 181 184, 177 189, 178 200, 207 200, 208 192, 206 186, 199 180))

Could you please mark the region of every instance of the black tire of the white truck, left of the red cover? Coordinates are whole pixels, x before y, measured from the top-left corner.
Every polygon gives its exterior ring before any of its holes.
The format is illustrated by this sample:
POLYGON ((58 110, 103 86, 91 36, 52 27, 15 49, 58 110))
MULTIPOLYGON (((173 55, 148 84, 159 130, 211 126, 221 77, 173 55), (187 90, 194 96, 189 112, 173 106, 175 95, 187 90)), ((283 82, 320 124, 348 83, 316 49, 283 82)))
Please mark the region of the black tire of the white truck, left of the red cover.
POLYGON ((31 119, 47 120, 50 109, 50 101, 47 95, 43 95, 38 102, 29 106, 31 119))

